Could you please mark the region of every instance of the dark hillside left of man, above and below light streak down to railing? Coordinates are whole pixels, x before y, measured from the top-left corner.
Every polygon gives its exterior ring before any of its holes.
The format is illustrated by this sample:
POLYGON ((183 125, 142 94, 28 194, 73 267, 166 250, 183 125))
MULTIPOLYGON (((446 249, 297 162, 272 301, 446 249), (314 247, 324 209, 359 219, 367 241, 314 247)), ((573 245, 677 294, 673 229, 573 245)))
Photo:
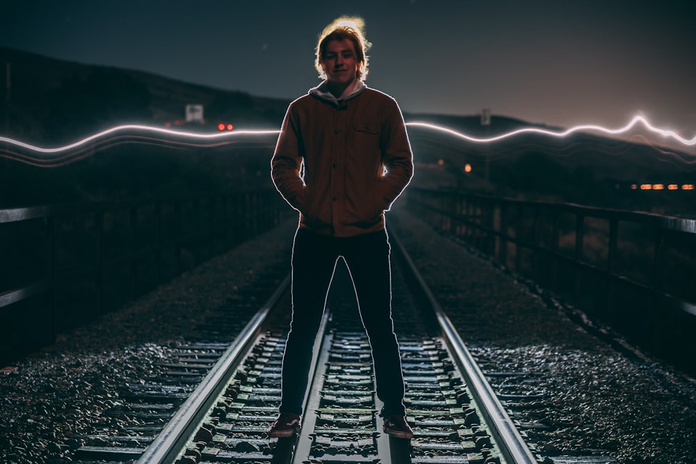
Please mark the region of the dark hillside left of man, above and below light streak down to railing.
MULTIPOLYGON (((3 70, 5 63, 10 63, 10 99, 7 106, 1 99, 0 118, 7 121, 0 132, 5 135, 7 127, 8 136, 45 147, 119 124, 213 132, 219 122, 229 122, 235 128, 277 129, 288 103, 0 48, 3 70), (205 124, 185 123, 187 104, 203 104, 205 124)), ((5 79, 3 72, 2 90, 5 79)), ((269 186, 274 143, 275 137, 262 137, 221 147, 183 147, 131 138, 56 168, 6 160, 0 163, 0 207, 269 186)))

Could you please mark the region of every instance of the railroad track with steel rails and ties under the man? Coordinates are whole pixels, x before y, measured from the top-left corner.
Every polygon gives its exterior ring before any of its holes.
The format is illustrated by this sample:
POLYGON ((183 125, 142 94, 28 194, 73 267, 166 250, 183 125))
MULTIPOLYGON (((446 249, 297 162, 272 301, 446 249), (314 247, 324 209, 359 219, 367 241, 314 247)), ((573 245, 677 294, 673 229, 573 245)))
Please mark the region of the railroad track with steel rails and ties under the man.
POLYGON ((347 271, 338 266, 323 334, 315 343, 313 381, 298 438, 269 439, 265 433, 280 402, 280 363, 290 304, 289 278, 285 278, 258 312, 238 314, 246 317, 246 323, 230 344, 216 340, 177 346, 179 362, 167 366, 170 370, 157 383, 131 386, 128 413, 149 417, 147 426, 129 430, 118 440, 111 433, 108 447, 82 447, 76 461, 539 461, 393 235, 391 242, 393 317, 413 440, 390 439, 381 433, 370 346, 347 271))

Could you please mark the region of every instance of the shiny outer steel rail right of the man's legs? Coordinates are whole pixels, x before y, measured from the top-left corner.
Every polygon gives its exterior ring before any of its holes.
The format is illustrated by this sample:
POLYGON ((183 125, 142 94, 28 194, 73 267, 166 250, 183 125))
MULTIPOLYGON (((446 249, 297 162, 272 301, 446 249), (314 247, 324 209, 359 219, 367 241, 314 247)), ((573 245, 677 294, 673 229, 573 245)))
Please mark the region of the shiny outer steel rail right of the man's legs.
POLYGON ((435 311, 438 323, 443 331, 445 343, 448 344, 450 351, 454 353, 454 360, 457 362, 461 374, 464 375, 466 384, 470 387, 470 392, 480 407, 480 412, 484 415, 485 422, 491 427, 491 434, 496 440, 500 452, 508 463, 515 464, 538 464, 539 461, 534 457, 532 451, 525 443, 503 408, 493 388, 486 380, 481 369, 476 364, 471 353, 466 348, 457 329, 452 325, 452 321, 437 302, 435 296, 423 280, 422 276, 413 264, 411 257, 402 246, 398 237, 390 231, 390 242, 395 244, 397 253, 400 254, 413 278, 416 279, 420 290, 427 298, 429 304, 435 311))

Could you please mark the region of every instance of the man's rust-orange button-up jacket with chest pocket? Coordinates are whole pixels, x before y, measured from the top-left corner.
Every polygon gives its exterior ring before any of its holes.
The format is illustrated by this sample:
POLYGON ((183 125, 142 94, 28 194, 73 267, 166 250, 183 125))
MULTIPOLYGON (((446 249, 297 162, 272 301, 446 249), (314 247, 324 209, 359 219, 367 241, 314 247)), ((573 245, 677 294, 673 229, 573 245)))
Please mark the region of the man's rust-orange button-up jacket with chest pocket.
POLYGON ((334 237, 382 230, 384 211, 412 176, 401 110, 371 88, 341 103, 311 91, 296 99, 271 159, 273 182, 300 212, 299 227, 334 237))

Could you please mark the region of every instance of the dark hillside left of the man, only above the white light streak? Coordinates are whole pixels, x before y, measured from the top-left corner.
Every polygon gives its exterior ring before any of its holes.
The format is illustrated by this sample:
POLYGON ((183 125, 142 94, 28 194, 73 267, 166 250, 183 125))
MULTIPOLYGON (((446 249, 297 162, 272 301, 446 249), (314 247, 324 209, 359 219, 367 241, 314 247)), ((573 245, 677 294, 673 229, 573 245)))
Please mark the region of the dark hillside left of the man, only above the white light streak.
MULTIPOLYGON (((7 134, 47 145, 69 143, 112 125, 181 124, 187 104, 203 104, 209 127, 230 122, 240 128, 276 128, 288 103, 0 47, 3 70, 6 63, 10 63, 10 99, 0 116, 8 119, 7 134)), ((3 72, 3 90, 5 79, 3 72)))

